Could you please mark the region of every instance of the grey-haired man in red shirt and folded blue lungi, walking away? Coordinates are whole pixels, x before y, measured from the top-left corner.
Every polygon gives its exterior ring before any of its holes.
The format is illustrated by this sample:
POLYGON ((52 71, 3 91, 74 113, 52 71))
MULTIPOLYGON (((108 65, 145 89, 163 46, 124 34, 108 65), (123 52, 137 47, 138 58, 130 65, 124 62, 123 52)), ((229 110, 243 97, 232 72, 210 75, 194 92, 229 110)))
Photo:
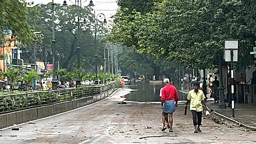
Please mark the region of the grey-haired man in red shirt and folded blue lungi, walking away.
POLYGON ((172 131, 172 124, 173 124, 173 119, 172 119, 172 114, 175 111, 175 107, 178 107, 178 101, 179 101, 179 96, 178 96, 178 91, 175 86, 170 85, 170 81, 168 78, 164 79, 164 88, 162 90, 162 97, 161 97, 161 104, 162 104, 162 119, 163 119, 163 129, 162 131, 165 131, 167 128, 165 127, 165 113, 168 114, 169 117, 169 123, 168 125, 170 126, 169 132, 172 131), (175 102, 175 103, 174 103, 175 102))

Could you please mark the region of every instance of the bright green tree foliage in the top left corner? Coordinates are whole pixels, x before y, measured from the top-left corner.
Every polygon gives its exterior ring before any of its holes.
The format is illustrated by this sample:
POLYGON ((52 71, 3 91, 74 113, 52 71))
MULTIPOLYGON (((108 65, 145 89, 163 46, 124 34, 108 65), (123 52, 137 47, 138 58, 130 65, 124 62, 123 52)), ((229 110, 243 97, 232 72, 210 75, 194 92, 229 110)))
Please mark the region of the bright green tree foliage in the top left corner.
MULTIPOLYGON (((2 30, 11 30, 13 38, 18 38, 22 43, 30 43, 35 38, 31 33, 33 27, 28 25, 28 13, 33 11, 25 0, 1 0, 0 1, 0 28, 2 30)), ((4 41, 3 31, 0 31, 0 41, 4 41)), ((6 33, 6 32, 4 32, 6 33)))

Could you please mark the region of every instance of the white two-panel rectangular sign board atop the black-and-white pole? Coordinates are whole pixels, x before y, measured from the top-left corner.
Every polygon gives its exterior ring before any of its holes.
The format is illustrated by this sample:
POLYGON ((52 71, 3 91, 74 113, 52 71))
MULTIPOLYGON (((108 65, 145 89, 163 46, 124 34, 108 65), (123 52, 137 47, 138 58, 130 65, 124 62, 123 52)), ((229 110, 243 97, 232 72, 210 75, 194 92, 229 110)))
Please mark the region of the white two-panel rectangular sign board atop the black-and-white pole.
POLYGON ((224 58, 225 61, 238 61, 238 39, 225 40, 224 58), (231 59, 231 55, 233 55, 233 59, 231 59))

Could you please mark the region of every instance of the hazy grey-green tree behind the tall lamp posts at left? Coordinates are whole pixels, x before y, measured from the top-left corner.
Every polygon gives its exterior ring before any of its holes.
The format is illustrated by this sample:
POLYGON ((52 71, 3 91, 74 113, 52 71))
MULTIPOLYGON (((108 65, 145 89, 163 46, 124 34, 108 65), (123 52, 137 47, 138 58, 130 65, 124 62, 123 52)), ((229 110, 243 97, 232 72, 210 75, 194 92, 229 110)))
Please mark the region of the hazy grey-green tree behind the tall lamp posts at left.
MULTIPOLYGON (((37 31, 42 31, 44 34, 44 39, 41 44, 42 47, 51 48, 52 41, 52 10, 51 3, 43 5, 34 6, 40 17, 38 19, 34 18, 35 13, 30 13, 29 21, 30 25, 34 26, 37 31)), ((73 71, 77 67, 77 16, 78 9, 76 5, 70 5, 67 10, 63 10, 60 4, 55 4, 55 18, 58 22, 55 22, 55 39, 56 39, 56 50, 63 53, 65 58, 60 61, 62 68, 68 71, 73 71)), ((97 50, 94 47, 94 36, 93 29, 94 26, 94 15, 90 7, 82 7, 79 10, 80 20, 79 20, 79 47, 81 47, 81 67, 86 71, 92 71, 94 68, 94 55, 98 54, 99 58, 103 55, 103 46, 100 42, 99 37, 102 35, 102 23, 97 23, 97 50)), ((44 50, 44 49, 43 49, 44 50)), ((44 60, 45 57, 42 57, 44 60)), ((51 58, 47 57, 47 60, 51 62, 51 58)))

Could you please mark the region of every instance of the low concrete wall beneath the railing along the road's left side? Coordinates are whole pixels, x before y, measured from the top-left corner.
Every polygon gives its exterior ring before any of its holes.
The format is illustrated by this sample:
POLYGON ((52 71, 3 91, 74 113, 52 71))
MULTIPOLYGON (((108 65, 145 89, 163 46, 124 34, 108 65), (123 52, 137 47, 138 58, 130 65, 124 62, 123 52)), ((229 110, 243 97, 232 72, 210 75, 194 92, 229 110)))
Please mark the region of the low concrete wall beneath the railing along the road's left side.
POLYGON ((100 99, 108 97, 108 94, 112 93, 113 91, 114 89, 109 90, 107 92, 103 92, 95 96, 91 96, 91 97, 85 97, 77 100, 56 103, 54 105, 31 108, 26 110, 15 111, 12 113, 2 114, 0 115, 0 122, 1 122, 0 129, 4 127, 12 126, 13 124, 25 123, 25 122, 33 121, 35 119, 60 114, 68 110, 90 105, 93 102, 96 102, 96 101, 99 101, 100 99))

